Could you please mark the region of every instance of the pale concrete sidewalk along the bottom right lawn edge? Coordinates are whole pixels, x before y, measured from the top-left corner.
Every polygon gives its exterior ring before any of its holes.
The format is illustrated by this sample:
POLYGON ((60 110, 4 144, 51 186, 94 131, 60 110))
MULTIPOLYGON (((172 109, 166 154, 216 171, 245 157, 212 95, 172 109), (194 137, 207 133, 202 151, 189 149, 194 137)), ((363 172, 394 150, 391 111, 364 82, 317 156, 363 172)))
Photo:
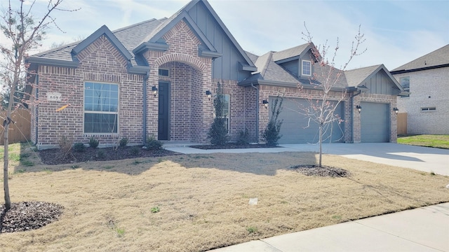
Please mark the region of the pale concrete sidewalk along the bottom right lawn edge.
POLYGON ((449 203, 249 241, 212 251, 449 251, 449 203))

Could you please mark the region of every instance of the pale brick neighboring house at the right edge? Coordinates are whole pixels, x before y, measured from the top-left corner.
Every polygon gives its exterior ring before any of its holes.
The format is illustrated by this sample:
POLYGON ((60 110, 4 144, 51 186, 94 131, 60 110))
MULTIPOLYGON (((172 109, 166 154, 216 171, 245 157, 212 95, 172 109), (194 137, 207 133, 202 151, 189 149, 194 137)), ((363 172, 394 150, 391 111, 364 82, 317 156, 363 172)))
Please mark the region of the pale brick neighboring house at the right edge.
POLYGON ((398 98, 408 134, 449 134, 449 45, 391 71, 410 92, 398 98))

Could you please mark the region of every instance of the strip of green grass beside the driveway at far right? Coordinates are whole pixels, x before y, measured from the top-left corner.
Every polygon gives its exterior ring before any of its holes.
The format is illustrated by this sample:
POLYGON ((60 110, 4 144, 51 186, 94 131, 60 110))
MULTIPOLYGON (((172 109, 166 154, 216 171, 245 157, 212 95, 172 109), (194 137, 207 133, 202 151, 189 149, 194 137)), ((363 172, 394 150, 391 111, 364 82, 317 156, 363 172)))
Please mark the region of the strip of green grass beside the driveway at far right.
POLYGON ((449 135, 399 135, 398 144, 449 149, 449 135))

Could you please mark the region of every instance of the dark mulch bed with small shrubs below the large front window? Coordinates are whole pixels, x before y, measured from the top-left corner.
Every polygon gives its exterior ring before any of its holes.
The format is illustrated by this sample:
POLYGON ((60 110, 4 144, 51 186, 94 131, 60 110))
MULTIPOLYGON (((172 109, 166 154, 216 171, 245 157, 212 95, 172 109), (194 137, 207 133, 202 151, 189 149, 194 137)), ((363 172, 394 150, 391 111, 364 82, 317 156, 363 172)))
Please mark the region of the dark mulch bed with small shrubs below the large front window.
POLYGON ((165 149, 147 150, 142 146, 126 146, 119 148, 86 148, 86 151, 74 151, 64 156, 59 148, 39 151, 41 160, 46 165, 64 165, 75 162, 123 160, 128 158, 153 158, 167 155, 180 155, 165 149))

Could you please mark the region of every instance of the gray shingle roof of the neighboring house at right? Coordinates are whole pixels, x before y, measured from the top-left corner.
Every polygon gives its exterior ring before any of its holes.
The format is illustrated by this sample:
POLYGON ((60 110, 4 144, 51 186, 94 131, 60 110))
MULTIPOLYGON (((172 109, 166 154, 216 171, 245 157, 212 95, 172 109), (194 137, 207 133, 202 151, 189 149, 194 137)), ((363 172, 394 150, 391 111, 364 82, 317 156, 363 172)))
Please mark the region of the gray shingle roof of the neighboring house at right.
POLYGON ((407 64, 403 64, 393 70, 394 71, 402 71, 402 70, 413 70, 413 69, 425 69, 432 66, 440 66, 444 64, 449 64, 449 44, 434 50, 433 52, 428 53, 422 57, 419 57, 407 64))

